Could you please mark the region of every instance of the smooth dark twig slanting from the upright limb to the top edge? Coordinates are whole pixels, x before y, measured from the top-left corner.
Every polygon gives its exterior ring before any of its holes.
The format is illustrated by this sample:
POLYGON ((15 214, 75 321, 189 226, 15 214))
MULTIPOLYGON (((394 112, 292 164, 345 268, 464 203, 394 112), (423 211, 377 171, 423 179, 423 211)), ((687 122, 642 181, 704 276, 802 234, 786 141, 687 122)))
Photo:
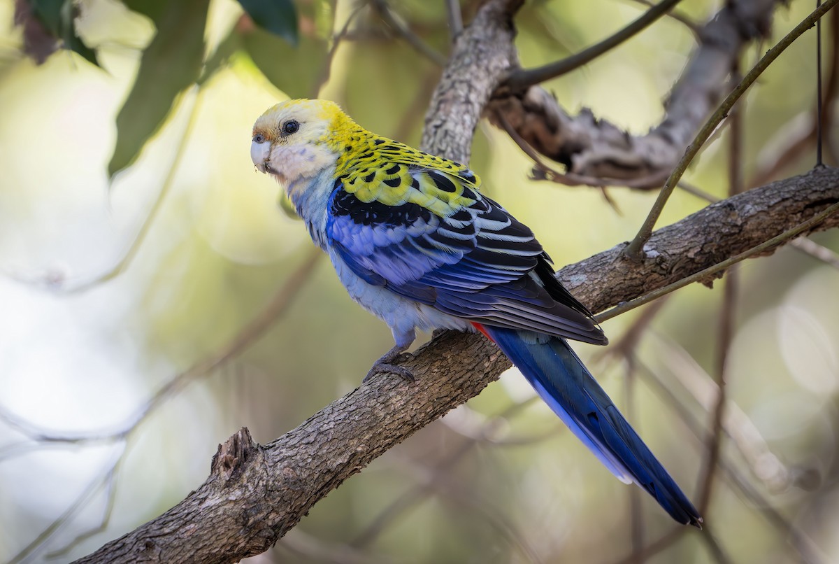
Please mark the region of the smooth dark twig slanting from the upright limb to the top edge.
POLYGON ((607 51, 614 49, 627 39, 632 38, 633 35, 638 34, 638 32, 643 31, 651 23, 654 23, 655 20, 661 18, 665 13, 667 13, 670 8, 673 8, 676 4, 680 3, 680 1, 681 0, 662 0, 653 8, 649 8, 649 10, 644 12, 641 17, 633 21, 633 23, 629 23, 628 26, 618 30, 617 33, 610 35, 606 39, 603 39, 600 43, 593 44, 591 47, 581 50, 579 53, 571 55, 570 57, 557 60, 549 65, 536 67, 535 69, 519 69, 517 71, 513 71, 510 73, 507 80, 504 81, 504 85, 513 92, 519 92, 526 90, 530 86, 539 84, 540 82, 548 81, 551 78, 556 78, 557 76, 562 76, 567 72, 574 71, 582 65, 586 65, 586 63, 591 62, 591 60, 596 59, 600 55, 603 55, 607 51))

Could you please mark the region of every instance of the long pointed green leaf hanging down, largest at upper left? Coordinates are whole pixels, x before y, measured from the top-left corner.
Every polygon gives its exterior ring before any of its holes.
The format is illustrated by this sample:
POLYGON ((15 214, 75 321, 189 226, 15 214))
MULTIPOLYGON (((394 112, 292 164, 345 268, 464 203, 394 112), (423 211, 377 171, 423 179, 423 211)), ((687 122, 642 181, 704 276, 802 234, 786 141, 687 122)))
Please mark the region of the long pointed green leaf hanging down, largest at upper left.
POLYGON ((137 79, 117 115, 117 146, 108 175, 132 164, 164 123, 180 91, 198 79, 210 0, 164 3, 157 34, 143 51, 137 79))

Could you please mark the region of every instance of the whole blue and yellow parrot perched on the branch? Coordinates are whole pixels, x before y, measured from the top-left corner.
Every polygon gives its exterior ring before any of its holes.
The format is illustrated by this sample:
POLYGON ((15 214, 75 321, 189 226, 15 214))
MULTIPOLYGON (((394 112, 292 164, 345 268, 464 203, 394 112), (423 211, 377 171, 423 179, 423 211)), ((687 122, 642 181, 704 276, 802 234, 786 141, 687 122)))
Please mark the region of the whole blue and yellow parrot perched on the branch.
POLYGON ((349 295, 388 324, 393 347, 367 373, 394 373, 416 331, 481 332, 624 483, 701 529, 690 499, 567 340, 607 344, 555 277, 534 233, 482 195, 466 165, 367 131, 335 102, 289 100, 253 125, 251 159, 274 176, 349 295))

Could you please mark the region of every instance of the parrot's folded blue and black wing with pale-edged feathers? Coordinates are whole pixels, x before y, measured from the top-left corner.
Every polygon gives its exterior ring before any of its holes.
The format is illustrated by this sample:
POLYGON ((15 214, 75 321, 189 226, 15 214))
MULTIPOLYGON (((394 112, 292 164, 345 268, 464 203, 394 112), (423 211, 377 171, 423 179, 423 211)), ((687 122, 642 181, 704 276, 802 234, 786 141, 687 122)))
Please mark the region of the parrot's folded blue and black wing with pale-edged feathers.
POLYGON ((429 169, 405 174, 414 184, 445 189, 457 183, 463 201, 471 203, 438 215, 433 205, 365 202, 338 186, 326 235, 357 276, 469 321, 607 342, 589 311, 555 279, 528 227, 466 185, 462 175, 429 169))

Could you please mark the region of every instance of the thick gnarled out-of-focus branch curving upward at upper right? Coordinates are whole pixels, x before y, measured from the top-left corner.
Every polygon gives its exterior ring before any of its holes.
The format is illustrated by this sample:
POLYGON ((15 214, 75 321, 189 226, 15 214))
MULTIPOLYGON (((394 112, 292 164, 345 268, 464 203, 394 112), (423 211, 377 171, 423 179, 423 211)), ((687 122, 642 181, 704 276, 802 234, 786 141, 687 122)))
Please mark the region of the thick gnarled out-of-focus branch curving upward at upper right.
POLYGON ((499 91, 487 116, 494 121, 503 114, 539 154, 564 164, 565 174, 581 184, 597 179, 657 188, 727 92, 734 61, 754 39, 769 36, 772 13, 780 3, 727 2, 701 29, 702 42, 664 104, 664 120, 646 135, 633 136, 586 108, 572 117, 541 86, 513 96, 499 91))

